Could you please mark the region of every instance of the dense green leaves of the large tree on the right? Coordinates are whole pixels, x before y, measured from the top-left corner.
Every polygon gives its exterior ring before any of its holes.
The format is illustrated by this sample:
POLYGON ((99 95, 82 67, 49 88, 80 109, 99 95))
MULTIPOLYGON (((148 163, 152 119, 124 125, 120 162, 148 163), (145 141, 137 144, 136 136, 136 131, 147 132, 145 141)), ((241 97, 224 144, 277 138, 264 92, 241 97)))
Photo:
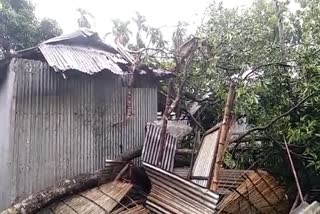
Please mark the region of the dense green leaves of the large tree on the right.
MULTIPOLYGON (((235 113, 249 127, 268 124, 315 93, 270 128, 253 133, 266 138, 261 143, 233 152, 238 167, 256 164, 292 181, 284 139, 298 171, 320 174, 320 1, 300 1, 303 8, 297 11, 290 11, 285 3, 279 3, 277 9, 272 3, 256 0, 244 10, 213 3, 198 32, 206 49, 195 61, 188 86, 195 93, 212 91, 225 99, 228 82, 237 82, 235 113)), ((304 185, 308 183, 303 180, 304 185)))

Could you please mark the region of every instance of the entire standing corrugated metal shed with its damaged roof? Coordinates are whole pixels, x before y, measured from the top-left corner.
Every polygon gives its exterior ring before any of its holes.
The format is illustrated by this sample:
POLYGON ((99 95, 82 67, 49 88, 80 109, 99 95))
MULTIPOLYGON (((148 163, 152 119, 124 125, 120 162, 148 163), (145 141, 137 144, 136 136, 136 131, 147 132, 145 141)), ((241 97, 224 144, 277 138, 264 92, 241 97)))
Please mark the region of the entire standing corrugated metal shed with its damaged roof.
POLYGON ((133 67, 85 29, 0 62, 0 210, 143 144, 172 74, 133 67))

